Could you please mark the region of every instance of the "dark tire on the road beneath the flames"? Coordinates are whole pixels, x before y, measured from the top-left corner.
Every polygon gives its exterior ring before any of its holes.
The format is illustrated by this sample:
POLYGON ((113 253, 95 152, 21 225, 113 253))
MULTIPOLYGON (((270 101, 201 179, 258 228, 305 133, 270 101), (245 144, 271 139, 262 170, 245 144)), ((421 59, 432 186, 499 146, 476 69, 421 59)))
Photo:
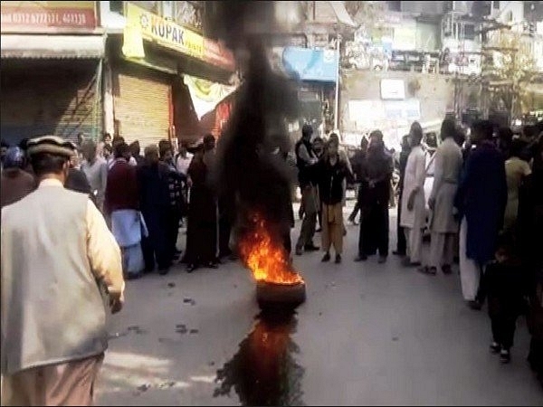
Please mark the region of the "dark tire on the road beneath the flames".
POLYGON ((256 283, 256 300, 260 308, 296 308, 306 299, 305 283, 256 283))

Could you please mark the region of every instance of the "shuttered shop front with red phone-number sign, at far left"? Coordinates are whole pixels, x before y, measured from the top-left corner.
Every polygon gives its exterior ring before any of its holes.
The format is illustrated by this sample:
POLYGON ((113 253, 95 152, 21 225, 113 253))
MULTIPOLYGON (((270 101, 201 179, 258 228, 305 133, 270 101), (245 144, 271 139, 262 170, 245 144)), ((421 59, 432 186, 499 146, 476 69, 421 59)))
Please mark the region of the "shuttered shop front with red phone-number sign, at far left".
POLYGON ((3 2, 1 136, 101 131, 104 37, 94 2, 3 2))

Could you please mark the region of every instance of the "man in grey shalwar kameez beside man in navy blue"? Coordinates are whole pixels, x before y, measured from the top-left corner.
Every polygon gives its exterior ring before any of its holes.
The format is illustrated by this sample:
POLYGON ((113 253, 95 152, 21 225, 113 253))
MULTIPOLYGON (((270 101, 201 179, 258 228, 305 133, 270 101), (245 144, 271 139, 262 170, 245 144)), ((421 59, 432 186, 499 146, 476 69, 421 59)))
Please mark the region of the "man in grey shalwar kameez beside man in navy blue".
POLYGON ((430 230, 430 259, 422 272, 434 275, 442 266, 443 273, 450 274, 454 257, 454 237, 458 233, 458 222, 454 217, 454 195, 458 189, 462 170, 462 150, 454 142, 456 129, 450 118, 443 120, 441 137, 443 143, 434 157, 432 193, 428 205, 432 210, 430 230))

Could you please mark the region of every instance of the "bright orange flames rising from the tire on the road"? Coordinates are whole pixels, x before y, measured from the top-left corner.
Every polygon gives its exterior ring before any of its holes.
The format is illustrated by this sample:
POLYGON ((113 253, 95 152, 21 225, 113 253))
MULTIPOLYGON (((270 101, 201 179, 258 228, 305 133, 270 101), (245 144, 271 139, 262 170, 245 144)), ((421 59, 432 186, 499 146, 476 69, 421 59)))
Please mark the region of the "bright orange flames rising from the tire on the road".
POLYGON ((262 216, 255 214, 252 222, 252 231, 240 241, 240 254, 254 279, 274 284, 303 282, 300 274, 293 269, 281 242, 272 239, 262 216))

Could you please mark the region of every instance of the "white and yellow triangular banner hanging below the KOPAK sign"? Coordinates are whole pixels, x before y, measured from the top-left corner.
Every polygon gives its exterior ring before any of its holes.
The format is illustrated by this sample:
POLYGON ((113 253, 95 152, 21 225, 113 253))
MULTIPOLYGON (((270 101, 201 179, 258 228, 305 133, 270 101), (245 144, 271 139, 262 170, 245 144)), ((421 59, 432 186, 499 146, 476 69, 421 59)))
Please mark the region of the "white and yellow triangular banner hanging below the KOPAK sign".
POLYGON ((190 75, 184 75, 184 82, 190 92, 198 120, 215 109, 221 101, 236 90, 235 86, 227 86, 190 75))

